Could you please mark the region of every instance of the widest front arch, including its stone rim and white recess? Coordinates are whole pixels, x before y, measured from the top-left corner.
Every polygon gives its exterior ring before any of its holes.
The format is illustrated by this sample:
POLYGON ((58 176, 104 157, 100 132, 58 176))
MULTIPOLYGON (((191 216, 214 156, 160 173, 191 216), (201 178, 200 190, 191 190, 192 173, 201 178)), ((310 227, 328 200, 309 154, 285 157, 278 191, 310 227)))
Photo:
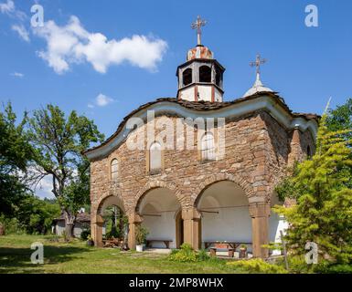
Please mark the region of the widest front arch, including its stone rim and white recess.
POLYGON ((254 189, 239 175, 221 172, 209 176, 197 186, 193 206, 200 214, 198 246, 227 241, 248 245, 252 253, 252 219, 250 198, 254 189), (219 227, 221 226, 221 227, 219 227))

